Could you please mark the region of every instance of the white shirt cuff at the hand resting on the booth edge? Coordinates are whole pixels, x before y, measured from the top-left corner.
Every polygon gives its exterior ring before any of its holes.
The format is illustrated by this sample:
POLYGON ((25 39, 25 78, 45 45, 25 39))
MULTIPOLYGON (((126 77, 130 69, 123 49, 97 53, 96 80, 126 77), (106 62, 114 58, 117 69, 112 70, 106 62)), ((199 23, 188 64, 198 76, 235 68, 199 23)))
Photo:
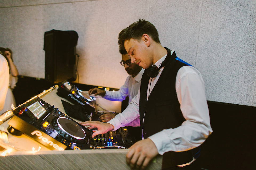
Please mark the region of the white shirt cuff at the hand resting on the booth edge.
POLYGON ((162 131, 148 137, 149 139, 151 139, 155 146, 157 147, 158 153, 160 155, 163 155, 165 153, 165 146, 168 145, 170 139, 168 138, 168 136, 163 133, 162 131))

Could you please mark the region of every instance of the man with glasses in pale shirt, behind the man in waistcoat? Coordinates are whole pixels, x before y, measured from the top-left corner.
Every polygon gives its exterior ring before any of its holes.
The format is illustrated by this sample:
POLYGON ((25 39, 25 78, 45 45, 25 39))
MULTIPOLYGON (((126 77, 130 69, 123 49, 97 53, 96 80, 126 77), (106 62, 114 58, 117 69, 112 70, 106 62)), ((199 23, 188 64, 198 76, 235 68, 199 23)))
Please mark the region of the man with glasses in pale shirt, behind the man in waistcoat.
MULTIPOLYGON (((122 54, 122 61, 120 64, 125 67, 125 71, 129 74, 126 78, 125 84, 120 87, 118 91, 105 91, 99 88, 92 88, 88 91, 89 95, 94 94, 102 96, 104 99, 111 100, 111 101, 123 101, 127 96, 129 96, 129 103, 134 96, 138 94, 139 85, 141 82, 142 74, 144 73, 144 69, 137 65, 136 63, 131 62, 130 56, 128 56, 126 50, 119 50, 122 54)), ((100 116, 100 120, 102 122, 108 122, 115 117, 114 114, 106 113, 100 116)), ((139 118, 130 126, 140 126, 139 118)))

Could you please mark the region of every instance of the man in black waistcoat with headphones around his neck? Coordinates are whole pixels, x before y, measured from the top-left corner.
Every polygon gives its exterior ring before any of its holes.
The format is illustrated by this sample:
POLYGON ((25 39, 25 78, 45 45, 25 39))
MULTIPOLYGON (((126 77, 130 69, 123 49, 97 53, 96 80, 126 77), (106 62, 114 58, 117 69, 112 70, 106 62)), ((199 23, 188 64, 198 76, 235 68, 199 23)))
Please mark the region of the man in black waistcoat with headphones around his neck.
POLYGON ((212 133, 201 73, 176 57, 174 50, 164 48, 148 21, 131 24, 118 39, 131 62, 146 69, 138 95, 108 123, 81 124, 97 127, 94 137, 140 117, 143 140, 126 155, 132 169, 144 169, 157 154, 163 155, 162 169, 199 169, 199 146, 212 133))

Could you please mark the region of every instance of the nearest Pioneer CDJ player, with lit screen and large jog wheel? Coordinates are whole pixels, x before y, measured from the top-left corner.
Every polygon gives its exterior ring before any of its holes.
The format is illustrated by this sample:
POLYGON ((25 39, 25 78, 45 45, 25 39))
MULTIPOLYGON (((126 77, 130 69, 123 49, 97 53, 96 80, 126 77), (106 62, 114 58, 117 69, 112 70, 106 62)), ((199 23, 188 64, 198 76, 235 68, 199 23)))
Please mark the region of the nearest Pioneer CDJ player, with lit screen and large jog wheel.
POLYGON ((13 114, 8 122, 11 134, 21 131, 50 150, 90 148, 92 131, 39 97, 19 105, 13 114))

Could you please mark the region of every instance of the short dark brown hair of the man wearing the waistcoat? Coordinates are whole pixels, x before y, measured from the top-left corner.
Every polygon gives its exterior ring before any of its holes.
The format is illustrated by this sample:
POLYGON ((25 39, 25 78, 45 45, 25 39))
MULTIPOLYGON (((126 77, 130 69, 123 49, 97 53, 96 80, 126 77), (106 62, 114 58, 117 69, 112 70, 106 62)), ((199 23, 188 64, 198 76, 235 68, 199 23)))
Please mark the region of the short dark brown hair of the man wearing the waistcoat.
POLYGON ((143 34, 149 35, 155 42, 160 44, 159 35, 155 26, 144 19, 139 19, 138 22, 134 22, 119 33, 119 48, 125 50, 124 42, 126 40, 130 40, 132 38, 140 41, 143 34))

